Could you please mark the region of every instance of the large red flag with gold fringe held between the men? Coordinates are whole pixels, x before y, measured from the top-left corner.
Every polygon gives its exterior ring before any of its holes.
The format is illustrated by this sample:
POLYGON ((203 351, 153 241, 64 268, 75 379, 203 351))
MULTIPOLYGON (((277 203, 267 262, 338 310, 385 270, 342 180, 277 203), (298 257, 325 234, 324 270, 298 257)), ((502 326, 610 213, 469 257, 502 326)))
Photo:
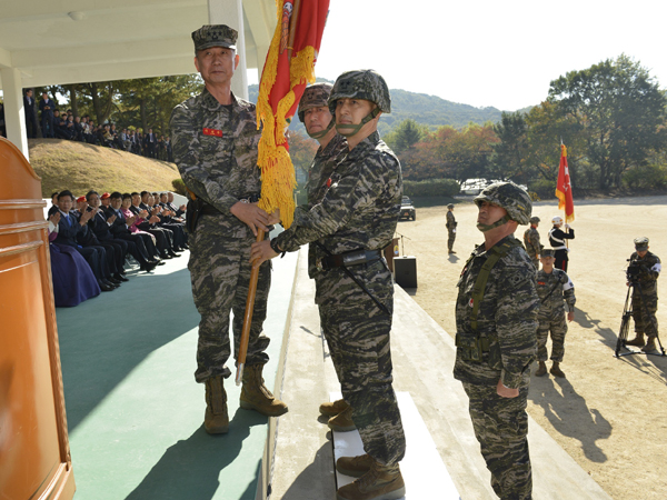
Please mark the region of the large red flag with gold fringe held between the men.
POLYGON ((329 0, 276 0, 278 24, 267 53, 257 100, 257 122, 263 124, 259 142, 260 208, 280 209, 285 228, 293 220, 295 169, 286 131, 307 82, 315 82, 329 0))

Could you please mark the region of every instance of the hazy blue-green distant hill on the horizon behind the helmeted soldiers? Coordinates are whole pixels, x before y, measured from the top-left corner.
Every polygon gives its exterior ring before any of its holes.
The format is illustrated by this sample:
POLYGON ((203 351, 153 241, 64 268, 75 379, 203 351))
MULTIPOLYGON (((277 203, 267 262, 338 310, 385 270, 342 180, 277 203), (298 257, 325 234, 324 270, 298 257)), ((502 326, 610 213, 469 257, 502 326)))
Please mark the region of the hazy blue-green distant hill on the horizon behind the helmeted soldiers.
MULTIPOLYGON (((257 102, 259 86, 250 86, 248 91, 250 101, 257 102)), ((417 123, 428 126, 431 130, 442 126, 460 129, 470 122, 484 124, 490 121, 496 123, 500 121, 500 113, 501 111, 496 108, 475 108, 469 104, 446 101, 436 96, 394 89, 391 90, 391 114, 382 116, 378 128, 384 136, 401 121, 411 118, 417 123)), ((303 132, 303 124, 297 116, 295 116, 290 129, 303 132)))

